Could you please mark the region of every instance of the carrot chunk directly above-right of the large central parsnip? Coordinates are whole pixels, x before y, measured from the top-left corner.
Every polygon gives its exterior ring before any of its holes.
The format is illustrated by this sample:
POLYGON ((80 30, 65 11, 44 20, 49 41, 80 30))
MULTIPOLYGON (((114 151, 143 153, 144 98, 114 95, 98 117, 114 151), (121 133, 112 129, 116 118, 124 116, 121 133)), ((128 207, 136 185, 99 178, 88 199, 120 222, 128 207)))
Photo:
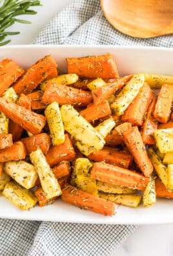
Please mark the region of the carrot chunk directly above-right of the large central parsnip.
POLYGON ((111 114, 110 106, 107 100, 104 100, 97 106, 90 104, 85 110, 79 112, 88 122, 95 121, 99 118, 106 117, 111 114))

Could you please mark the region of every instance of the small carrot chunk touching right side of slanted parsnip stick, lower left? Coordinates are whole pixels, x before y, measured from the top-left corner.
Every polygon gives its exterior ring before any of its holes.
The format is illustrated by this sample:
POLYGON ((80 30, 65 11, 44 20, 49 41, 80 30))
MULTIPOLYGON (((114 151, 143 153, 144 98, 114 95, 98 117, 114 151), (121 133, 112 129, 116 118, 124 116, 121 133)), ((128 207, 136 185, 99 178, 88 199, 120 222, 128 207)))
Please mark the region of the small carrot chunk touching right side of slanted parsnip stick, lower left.
POLYGON ((53 174, 56 176, 57 179, 62 178, 70 174, 70 165, 68 161, 62 161, 59 165, 56 165, 52 169, 53 174))

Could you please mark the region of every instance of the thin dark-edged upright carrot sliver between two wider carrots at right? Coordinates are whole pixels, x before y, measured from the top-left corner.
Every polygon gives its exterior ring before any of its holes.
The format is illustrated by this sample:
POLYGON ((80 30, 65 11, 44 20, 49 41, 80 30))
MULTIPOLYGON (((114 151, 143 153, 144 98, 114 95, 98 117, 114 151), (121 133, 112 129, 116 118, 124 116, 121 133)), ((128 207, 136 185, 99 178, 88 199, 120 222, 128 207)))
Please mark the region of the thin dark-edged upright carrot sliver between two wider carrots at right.
POLYGON ((153 98, 148 108, 147 116, 143 123, 142 139, 143 143, 147 145, 155 144, 154 131, 158 128, 158 120, 153 115, 155 106, 156 98, 153 98))

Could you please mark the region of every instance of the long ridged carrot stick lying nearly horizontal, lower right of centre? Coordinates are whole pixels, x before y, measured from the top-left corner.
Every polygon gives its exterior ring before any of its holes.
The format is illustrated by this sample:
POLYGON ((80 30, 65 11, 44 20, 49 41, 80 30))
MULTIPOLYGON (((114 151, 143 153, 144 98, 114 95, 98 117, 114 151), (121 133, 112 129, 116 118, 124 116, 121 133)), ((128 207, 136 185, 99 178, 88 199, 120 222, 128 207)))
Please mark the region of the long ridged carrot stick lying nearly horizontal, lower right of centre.
POLYGON ((104 162, 94 163, 90 175, 94 180, 141 191, 145 189, 149 181, 148 177, 137 172, 104 162))

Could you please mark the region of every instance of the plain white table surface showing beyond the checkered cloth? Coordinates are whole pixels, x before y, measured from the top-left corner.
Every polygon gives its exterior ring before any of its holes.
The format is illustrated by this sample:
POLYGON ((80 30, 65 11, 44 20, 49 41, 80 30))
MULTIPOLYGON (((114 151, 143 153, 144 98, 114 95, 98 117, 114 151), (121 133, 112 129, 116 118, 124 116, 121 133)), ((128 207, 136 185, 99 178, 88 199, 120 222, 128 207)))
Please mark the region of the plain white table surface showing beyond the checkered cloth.
MULTIPOLYGON (((12 36, 11 45, 32 43, 46 23, 72 0, 41 0, 43 6, 34 7, 37 15, 26 16, 32 25, 15 23, 10 29, 21 34, 12 36)), ((173 214, 172 214, 173 217, 173 214)), ((128 239, 117 248, 111 256, 172 256, 173 224, 139 226, 128 239)), ((106 255, 105 255, 106 256, 106 255)))

